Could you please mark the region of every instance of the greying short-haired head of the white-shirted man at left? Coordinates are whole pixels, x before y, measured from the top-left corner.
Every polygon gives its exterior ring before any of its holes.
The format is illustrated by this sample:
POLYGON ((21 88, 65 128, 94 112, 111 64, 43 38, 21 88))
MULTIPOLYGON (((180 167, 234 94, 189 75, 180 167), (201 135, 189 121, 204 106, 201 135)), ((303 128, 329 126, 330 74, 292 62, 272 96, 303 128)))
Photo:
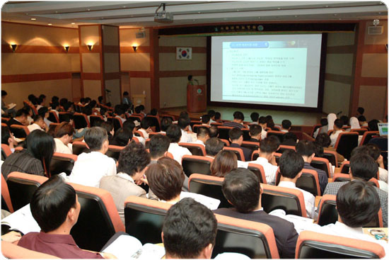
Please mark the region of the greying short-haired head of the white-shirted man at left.
POLYGON ((85 132, 84 140, 91 152, 100 151, 105 154, 108 151, 108 134, 104 128, 99 126, 89 128, 85 132))

